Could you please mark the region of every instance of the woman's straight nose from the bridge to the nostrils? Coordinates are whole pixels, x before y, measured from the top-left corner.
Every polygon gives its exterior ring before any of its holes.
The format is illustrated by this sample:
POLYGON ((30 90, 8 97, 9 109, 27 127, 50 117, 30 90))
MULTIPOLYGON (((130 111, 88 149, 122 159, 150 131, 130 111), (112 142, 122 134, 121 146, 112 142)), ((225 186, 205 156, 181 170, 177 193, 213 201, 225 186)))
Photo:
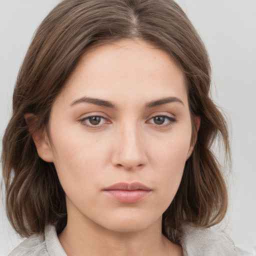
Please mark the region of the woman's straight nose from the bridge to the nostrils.
POLYGON ((140 169, 146 165, 145 143, 139 127, 122 125, 115 133, 112 164, 125 170, 140 169))

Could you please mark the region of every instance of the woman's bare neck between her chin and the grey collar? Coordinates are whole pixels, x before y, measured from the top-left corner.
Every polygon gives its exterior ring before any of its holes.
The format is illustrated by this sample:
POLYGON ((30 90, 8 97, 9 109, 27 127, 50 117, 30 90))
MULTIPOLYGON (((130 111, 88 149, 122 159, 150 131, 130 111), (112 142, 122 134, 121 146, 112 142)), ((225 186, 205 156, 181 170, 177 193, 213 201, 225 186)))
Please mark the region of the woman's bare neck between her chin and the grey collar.
POLYGON ((105 229, 89 219, 68 218, 59 234, 67 256, 156 256, 182 255, 181 247, 171 243, 161 233, 161 218, 139 231, 117 232, 105 229))

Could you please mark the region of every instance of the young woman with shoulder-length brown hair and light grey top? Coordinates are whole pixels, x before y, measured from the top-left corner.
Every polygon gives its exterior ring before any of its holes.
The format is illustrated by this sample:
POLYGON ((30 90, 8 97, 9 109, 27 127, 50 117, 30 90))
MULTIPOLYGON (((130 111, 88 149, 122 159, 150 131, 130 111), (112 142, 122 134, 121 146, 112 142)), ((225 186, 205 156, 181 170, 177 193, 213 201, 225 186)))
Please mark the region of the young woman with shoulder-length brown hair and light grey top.
POLYGON ((228 134, 207 52, 170 0, 64 0, 42 21, 3 138, 10 255, 245 255, 208 227, 228 134))

